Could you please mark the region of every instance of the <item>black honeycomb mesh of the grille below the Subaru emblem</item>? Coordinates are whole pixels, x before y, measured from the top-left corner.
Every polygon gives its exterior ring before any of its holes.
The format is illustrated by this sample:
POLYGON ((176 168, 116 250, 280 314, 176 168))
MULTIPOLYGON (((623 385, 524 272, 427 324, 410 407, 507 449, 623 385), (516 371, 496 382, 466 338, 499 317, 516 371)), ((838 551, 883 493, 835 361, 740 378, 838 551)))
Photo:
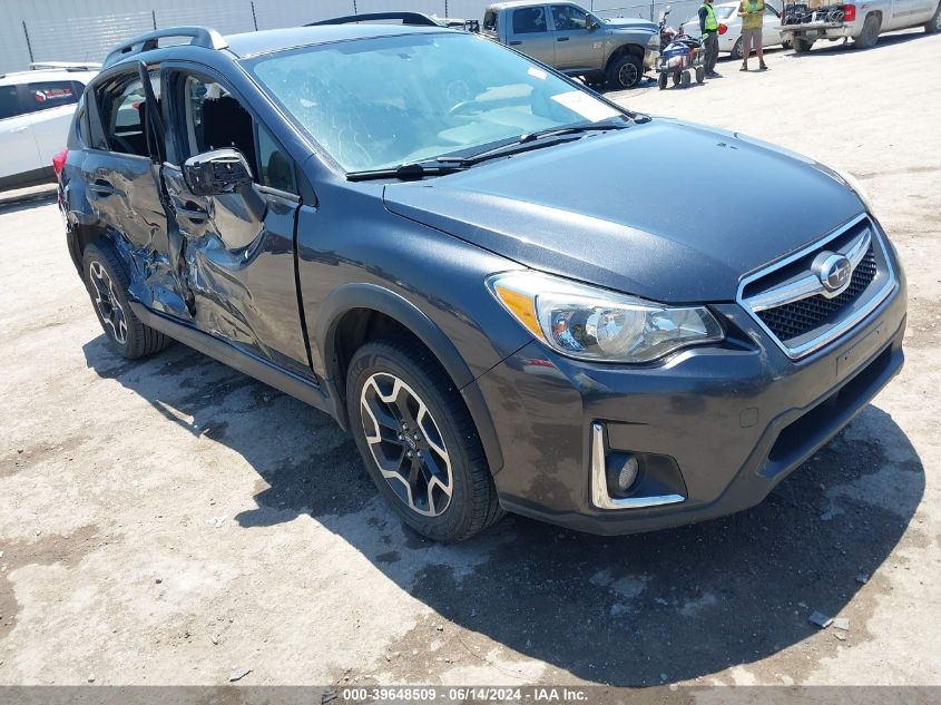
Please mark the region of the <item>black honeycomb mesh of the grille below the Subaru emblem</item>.
POLYGON ((873 245, 853 271, 850 286, 833 298, 819 294, 775 309, 759 311, 758 317, 780 340, 787 342, 806 335, 840 319, 844 309, 852 305, 875 278, 876 264, 873 245))

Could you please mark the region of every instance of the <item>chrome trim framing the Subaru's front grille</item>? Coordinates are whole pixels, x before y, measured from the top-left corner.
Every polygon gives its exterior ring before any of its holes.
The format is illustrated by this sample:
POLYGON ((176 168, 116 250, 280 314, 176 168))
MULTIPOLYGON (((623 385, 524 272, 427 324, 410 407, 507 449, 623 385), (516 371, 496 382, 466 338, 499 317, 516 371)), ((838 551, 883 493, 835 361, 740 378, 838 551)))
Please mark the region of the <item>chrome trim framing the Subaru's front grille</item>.
MULTIPOLYGON (((852 278, 852 277, 851 277, 852 278)), ((824 345, 831 343, 832 341, 841 337, 845 333, 847 333, 852 327, 854 327, 857 323, 863 321, 868 317, 878 306, 881 304, 885 298, 889 296, 890 293, 898 285, 898 277, 895 275, 895 271, 892 266, 892 261, 889 256, 889 249, 885 245, 885 234, 880 231, 876 226, 875 222, 869 217, 868 214, 863 213, 857 217, 853 218, 845 225, 839 227, 831 234, 826 235, 822 239, 816 241, 815 243, 800 249, 798 252, 788 255, 787 257, 775 262, 772 265, 768 265, 748 276, 744 277, 738 284, 738 293, 736 294, 736 302, 741 305, 748 315, 754 320, 755 323, 767 334, 771 340, 775 342, 775 344, 792 360, 796 360, 803 358, 805 355, 811 354, 823 347, 824 345), (882 255, 882 262, 885 266, 885 283, 879 291, 869 295, 865 300, 864 305, 860 306, 854 313, 841 321, 839 321, 835 325, 827 327, 826 332, 822 335, 814 337, 807 342, 802 343, 801 345, 791 347, 784 341, 782 341, 774 332, 762 321, 758 316, 761 311, 767 311, 768 309, 774 309, 776 306, 782 306, 787 303, 793 303, 796 301, 801 301, 802 298, 807 298, 811 296, 816 296, 822 294, 822 291, 810 291, 810 283, 807 282, 804 284, 803 290, 796 287, 795 285, 798 283, 808 280, 810 276, 816 282, 817 287, 821 286, 820 280, 815 275, 810 275, 808 277, 801 277, 797 282, 787 282, 785 285, 775 287, 770 290, 768 292, 761 292, 758 294, 754 294, 752 296, 745 297, 744 292, 745 288, 758 280, 768 276, 770 274, 787 266, 788 264, 801 260, 802 257, 806 257, 807 255, 822 251, 826 247, 826 245, 834 239, 839 238, 841 235, 845 234, 847 231, 852 229, 860 225, 860 223, 865 222, 868 224, 866 232, 863 233, 860 237, 854 238, 851 243, 846 244, 842 248, 842 254, 844 254, 851 262, 853 271, 855 271, 856 266, 863 261, 866 256, 866 253, 870 249, 870 246, 879 247, 879 252, 882 255), (869 234, 869 237, 866 237, 869 234), (771 294, 775 294, 777 297, 776 303, 768 303, 773 300, 771 294), (755 309, 755 305, 759 307, 755 309)), ((845 287, 841 288, 834 293, 834 295, 839 295, 845 291, 845 287)))

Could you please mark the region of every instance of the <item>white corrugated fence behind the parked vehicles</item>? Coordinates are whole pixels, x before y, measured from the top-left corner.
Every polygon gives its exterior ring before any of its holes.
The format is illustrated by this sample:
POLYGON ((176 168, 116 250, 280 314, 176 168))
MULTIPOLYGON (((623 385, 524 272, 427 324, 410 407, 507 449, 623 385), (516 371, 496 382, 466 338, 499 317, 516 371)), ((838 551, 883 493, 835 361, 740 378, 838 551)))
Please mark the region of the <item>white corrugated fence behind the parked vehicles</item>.
MULTIPOLYGON (((481 19, 492 0, 0 0, 0 72, 35 61, 100 61, 118 42, 161 27, 203 25, 223 35, 291 27, 340 14, 412 10, 481 19)), ((629 0, 628 0, 629 2, 629 0)), ((672 4, 670 23, 692 16, 699 0, 625 3, 585 0, 601 17, 656 21, 672 4)))

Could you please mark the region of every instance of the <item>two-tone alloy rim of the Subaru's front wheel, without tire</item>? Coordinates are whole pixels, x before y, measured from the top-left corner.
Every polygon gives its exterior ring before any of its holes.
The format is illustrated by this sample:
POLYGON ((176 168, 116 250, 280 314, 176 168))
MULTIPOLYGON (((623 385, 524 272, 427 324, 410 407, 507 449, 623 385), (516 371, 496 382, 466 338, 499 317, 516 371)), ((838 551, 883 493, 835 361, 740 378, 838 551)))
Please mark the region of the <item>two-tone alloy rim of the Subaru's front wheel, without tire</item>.
POLYGON ((422 516, 442 515, 451 503, 453 474, 428 405, 388 372, 366 380, 360 405, 370 452, 395 496, 422 516))

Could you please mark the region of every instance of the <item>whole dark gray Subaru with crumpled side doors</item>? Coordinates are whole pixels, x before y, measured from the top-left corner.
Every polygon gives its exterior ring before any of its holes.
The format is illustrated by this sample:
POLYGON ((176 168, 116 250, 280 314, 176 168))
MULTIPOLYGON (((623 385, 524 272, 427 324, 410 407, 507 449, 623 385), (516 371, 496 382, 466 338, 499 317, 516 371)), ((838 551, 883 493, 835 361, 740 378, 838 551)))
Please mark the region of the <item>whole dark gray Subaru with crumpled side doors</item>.
POLYGON ((754 506, 903 363, 851 176, 441 27, 137 37, 59 200, 117 353, 179 341, 331 414, 441 541, 754 506))

